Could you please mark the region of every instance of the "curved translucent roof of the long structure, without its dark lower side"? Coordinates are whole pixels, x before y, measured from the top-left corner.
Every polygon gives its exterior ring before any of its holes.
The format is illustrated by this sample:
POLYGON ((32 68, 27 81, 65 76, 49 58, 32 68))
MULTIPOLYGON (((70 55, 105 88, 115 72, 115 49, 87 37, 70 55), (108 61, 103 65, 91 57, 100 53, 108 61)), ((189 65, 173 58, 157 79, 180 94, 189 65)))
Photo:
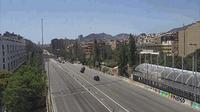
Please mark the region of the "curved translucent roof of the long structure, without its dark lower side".
MULTIPOLYGON (((139 73, 135 74, 139 77, 146 78, 152 81, 162 81, 164 83, 176 82, 188 86, 200 87, 200 73, 188 70, 182 70, 171 67, 143 63, 135 68, 139 73)), ((174 85, 173 85, 174 86, 174 85)))

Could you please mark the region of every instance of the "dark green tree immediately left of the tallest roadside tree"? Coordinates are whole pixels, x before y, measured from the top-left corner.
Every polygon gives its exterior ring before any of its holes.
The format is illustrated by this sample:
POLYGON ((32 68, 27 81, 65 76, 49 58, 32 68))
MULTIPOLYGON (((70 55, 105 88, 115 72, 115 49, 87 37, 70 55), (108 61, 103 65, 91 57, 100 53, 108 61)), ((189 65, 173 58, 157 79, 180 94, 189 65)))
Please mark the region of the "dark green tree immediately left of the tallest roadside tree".
POLYGON ((126 73, 126 65, 127 65, 127 55, 126 55, 126 45, 123 44, 119 48, 119 58, 118 58, 118 71, 119 75, 124 75, 126 73))

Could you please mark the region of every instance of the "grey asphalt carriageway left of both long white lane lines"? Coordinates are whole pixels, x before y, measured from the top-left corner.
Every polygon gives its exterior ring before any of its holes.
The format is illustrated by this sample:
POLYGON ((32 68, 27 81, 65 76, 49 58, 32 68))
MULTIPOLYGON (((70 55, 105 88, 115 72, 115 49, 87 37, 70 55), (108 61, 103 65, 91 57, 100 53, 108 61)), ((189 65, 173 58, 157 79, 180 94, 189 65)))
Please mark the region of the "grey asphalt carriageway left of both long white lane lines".
POLYGON ((69 75, 58 68, 55 63, 50 64, 50 79, 53 103, 57 112, 108 112, 108 110, 94 99, 69 75), (53 66, 52 66, 53 65, 53 66))

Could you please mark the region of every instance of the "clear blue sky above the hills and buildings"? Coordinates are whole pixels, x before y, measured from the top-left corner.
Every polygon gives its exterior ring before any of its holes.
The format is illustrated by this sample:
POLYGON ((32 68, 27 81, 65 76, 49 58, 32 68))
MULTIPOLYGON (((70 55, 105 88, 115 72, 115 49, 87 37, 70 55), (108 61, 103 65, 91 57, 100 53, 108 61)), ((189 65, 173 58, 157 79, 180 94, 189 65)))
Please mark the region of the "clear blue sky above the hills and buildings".
POLYGON ((44 43, 90 33, 159 33, 200 20, 200 0, 0 0, 0 33, 44 43))

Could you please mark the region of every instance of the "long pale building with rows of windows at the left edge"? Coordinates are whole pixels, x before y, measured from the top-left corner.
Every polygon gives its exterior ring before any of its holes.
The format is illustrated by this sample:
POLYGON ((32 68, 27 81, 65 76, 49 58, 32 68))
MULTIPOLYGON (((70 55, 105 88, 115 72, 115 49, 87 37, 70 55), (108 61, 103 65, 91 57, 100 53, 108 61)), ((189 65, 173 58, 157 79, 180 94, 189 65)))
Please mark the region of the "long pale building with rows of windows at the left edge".
POLYGON ((0 36, 0 70, 13 72, 26 60, 25 40, 0 36))

